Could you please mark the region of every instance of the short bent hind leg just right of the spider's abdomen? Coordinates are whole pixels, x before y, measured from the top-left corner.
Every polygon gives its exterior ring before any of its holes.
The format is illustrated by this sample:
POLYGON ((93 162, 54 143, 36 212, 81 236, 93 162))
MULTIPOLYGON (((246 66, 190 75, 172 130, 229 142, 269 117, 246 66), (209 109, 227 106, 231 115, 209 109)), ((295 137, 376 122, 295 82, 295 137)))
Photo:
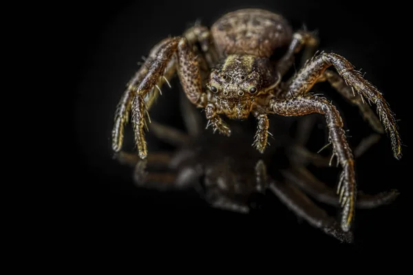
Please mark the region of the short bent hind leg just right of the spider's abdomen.
MULTIPOLYGON (((293 34, 293 40, 291 41, 287 52, 277 62, 277 72, 279 72, 281 76, 284 76, 284 74, 288 72, 288 69, 290 69, 290 67, 293 65, 295 54, 300 52, 303 46, 308 46, 306 47, 306 50, 308 50, 308 52, 310 53, 313 53, 317 45, 318 39, 314 36, 313 33, 306 32, 304 30, 295 32, 295 34, 293 34)), ((310 56, 308 56, 308 54, 304 53, 303 58, 309 57, 310 56)))

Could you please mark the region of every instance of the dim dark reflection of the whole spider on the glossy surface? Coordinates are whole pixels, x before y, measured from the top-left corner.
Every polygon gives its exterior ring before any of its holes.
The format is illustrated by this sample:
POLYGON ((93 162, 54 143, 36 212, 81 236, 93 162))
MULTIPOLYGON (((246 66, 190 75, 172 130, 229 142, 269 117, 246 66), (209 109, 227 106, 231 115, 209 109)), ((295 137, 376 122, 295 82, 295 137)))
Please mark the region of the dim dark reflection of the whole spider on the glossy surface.
MULTIPOLYGON (((233 123, 231 128, 239 137, 203 133, 200 113, 183 96, 181 102, 182 117, 188 133, 154 121, 149 126, 151 133, 160 140, 178 147, 176 151, 149 153, 146 159, 124 151, 116 154, 121 164, 134 167, 137 186, 162 191, 195 190, 213 208, 240 213, 260 207, 260 199, 272 193, 315 228, 320 228, 339 241, 353 241, 351 231, 343 232, 335 218, 309 198, 339 206, 335 190, 319 181, 306 168, 310 163, 316 166, 329 165, 328 157, 304 148, 305 137, 311 131, 308 125, 313 124, 313 120, 303 120, 298 124, 297 140, 288 135, 290 122, 277 121, 274 126, 278 130, 277 140, 271 150, 260 154, 251 146, 246 150, 239 149, 249 143, 253 127, 233 123), (288 156, 289 166, 282 164, 280 155, 288 156), (267 166, 275 168, 267 172, 267 166), (281 172, 281 179, 275 179, 276 171, 281 172)), ((366 138, 365 142, 357 146, 354 155, 358 157, 374 142, 377 142, 377 135, 366 138)), ((392 202, 397 195, 399 193, 396 190, 377 195, 358 192, 357 207, 376 208, 392 202)))

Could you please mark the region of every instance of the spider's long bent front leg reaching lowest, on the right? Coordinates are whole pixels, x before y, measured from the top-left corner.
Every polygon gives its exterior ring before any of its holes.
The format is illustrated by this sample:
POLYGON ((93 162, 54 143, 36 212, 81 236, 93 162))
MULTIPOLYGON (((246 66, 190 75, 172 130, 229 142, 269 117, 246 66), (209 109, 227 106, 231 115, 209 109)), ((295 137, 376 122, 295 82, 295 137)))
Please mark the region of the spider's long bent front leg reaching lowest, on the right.
POLYGON ((268 111, 285 116, 307 115, 321 113, 326 117, 329 140, 332 143, 333 154, 343 168, 340 175, 340 202, 343 206, 341 228, 350 230, 354 217, 356 201, 356 181, 354 177, 354 159, 350 146, 343 130, 343 122, 337 109, 325 98, 319 98, 310 94, 297 96, 285 100, 271 99, 268 111))

